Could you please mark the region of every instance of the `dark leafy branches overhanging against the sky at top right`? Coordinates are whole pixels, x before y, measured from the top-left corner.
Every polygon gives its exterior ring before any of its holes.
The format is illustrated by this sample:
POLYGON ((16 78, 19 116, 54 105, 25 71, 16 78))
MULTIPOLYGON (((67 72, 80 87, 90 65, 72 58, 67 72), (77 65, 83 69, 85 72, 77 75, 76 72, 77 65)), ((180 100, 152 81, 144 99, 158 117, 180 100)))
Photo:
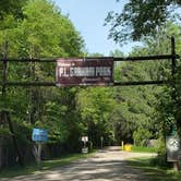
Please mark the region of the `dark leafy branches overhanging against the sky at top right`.
POLYGON ((180 5, 180 0, 130 0, 121 13, 108 13, 106 24, 111 26, 109 37, 122 43, 128 39, 140 40, 145 35, 155 35, 168 19, 173 17, 172 10, 180 5))

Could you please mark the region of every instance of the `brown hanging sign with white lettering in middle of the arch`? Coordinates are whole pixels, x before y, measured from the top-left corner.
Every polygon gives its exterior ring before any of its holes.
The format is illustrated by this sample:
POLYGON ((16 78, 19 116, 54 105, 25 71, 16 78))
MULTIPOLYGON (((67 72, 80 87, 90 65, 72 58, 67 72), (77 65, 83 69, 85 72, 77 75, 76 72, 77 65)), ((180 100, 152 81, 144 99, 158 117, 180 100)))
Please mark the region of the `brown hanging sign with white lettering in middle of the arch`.
POLYGON ((113 58, 58 59, 57 85, 111 85, 113 58))

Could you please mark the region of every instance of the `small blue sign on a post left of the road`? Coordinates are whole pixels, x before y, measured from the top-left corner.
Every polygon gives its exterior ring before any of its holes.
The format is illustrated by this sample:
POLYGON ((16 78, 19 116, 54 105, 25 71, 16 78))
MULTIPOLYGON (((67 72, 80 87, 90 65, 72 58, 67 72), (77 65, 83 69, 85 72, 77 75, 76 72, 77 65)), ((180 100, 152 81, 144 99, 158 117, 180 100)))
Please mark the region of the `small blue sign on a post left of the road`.
POLYGON ((33 129, 32 140, 35 142, 47 142, 48 141, 48 130, 33 129))

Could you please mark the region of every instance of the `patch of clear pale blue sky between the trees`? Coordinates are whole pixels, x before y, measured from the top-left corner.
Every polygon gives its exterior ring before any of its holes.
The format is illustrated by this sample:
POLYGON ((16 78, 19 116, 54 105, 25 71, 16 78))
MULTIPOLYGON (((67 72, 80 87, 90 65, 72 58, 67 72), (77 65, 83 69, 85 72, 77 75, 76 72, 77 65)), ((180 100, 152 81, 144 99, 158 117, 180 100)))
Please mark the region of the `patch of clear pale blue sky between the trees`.
POLYGON ((100 52, 109 56, 114 49, 131 51, 133 44, 120 47, 108 39, 109 28, 104 26, 104 20, 109 11, 120 12, 126 0, 119 3, 116 0, 55 0, 62 14, 68 15, 75 28, 85 40, 88 52, 100 52))

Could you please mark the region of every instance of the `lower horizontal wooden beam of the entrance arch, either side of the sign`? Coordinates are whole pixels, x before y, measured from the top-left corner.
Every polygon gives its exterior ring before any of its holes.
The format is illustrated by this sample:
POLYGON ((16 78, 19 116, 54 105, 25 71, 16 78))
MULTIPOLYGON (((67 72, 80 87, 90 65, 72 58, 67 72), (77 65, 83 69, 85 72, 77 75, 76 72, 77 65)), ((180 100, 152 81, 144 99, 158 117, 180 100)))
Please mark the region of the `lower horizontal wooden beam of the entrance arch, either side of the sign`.
MULTIPOLYGON (((140 82, 114 82, 113 86, 133 86, 133 85, 161 85, 168 84, 169 81, 140 81, 140 82)), ((2 83, 1 83, 2 85, 2 83)), ((56 86, 56 82, 7 82, 7 86, 56 86)))

